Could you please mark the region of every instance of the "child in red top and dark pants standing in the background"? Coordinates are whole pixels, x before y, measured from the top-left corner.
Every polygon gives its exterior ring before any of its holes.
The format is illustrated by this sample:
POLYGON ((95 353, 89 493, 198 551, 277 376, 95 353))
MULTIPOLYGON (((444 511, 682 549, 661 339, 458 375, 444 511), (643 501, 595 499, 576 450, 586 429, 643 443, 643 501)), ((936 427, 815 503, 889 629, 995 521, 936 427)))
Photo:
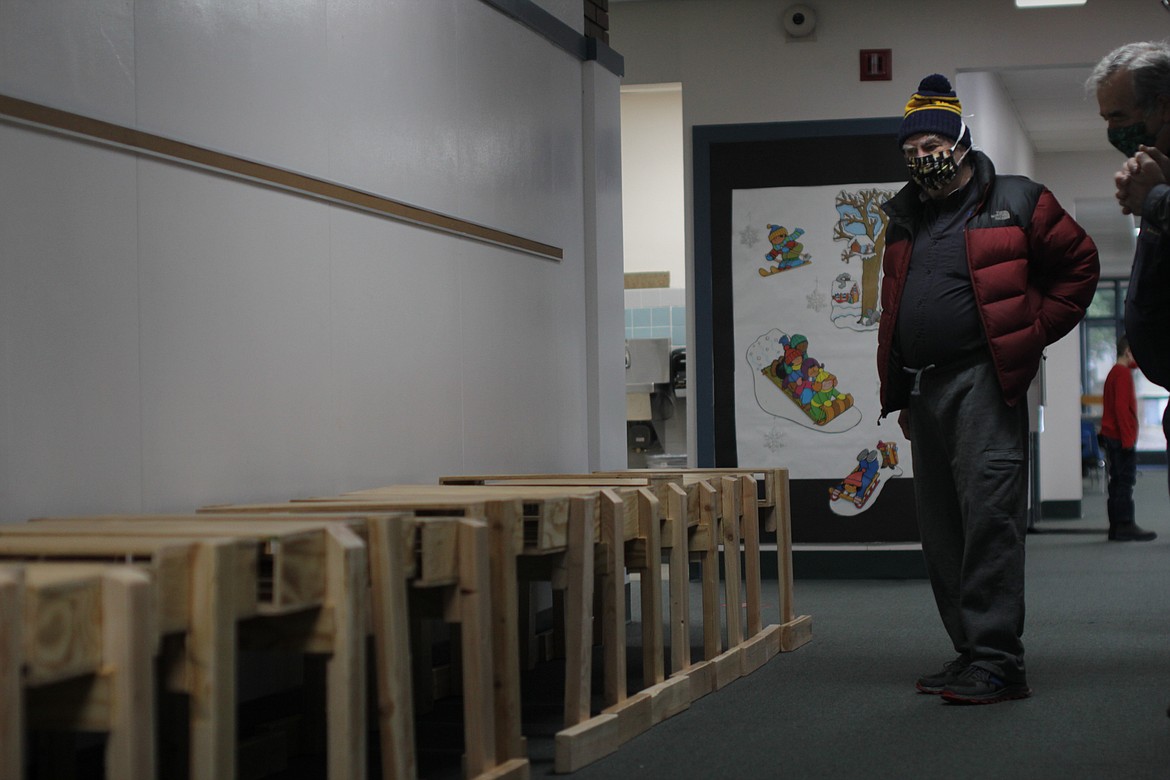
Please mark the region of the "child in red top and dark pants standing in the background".
POLYGON ((1134 483, 1137 478, 1137 395, 1134 392, 1134 353, 1129 340, 1117 339, 1117 363, 1104 379, 1104 412, 1101 416, 1101 447, 1108 464, 1109 539, 1149 541, 1157 537, 1134 522, 1134 483))

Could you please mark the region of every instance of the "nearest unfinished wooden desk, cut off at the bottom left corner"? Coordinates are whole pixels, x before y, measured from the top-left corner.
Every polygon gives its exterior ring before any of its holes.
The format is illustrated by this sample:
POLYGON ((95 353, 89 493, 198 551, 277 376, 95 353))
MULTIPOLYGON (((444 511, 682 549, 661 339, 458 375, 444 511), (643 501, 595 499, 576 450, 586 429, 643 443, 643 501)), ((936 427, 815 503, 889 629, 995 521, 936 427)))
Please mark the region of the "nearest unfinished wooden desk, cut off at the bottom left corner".
POLYGON ((105 776, 157 776, 153 596, 131 566, 0 565, 0 779, 25 776, 26 725, 104 731, 105 776))

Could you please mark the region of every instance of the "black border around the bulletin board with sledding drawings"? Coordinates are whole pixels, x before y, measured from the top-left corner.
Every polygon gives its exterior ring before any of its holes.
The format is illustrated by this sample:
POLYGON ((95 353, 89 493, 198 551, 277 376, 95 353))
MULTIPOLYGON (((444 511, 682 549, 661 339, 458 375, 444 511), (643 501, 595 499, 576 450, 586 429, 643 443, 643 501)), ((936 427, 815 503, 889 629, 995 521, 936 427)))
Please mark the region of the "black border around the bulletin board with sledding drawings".
MULTIPOLYGON (((697 465, 738 465, 735 421, 735 302, 731 292, 731 196, 736 189, 904 181, 900 117, 696 125, 693 391, 697 465)), ((889 420, 890 424, 896 424, 889 420)), ((752 467, 752 464, 744 464, 752 467)), ((911 479, 892 481, 881 504, 854 518, 828 510, 825 479, 793 479, 796 543, 917 540, 911 479), (882 510, 882 508, 896 508, 882 510)))

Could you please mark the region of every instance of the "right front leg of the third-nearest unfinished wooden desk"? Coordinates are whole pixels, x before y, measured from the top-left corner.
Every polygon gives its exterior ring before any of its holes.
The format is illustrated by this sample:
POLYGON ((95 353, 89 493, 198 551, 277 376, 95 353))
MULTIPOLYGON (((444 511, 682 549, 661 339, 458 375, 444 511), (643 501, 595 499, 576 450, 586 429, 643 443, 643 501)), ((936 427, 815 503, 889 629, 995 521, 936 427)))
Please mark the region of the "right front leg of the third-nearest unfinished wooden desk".
POLYGON ((463 731, 468 776, 496 765, 488 526, 460 520, 459 623, 463 648, 463 731))

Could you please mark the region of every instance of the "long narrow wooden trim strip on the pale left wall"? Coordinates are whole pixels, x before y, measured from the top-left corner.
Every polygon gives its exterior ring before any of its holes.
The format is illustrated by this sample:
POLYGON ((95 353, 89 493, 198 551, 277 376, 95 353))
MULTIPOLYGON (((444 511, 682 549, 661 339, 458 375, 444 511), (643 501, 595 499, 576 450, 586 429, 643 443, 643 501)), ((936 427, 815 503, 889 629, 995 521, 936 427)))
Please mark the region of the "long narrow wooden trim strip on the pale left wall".
POLYGON ((475 222, 468 222, 455 216, 432 212, 419 206, 411 206, 410 203, 402 203, 397 200, 383 198, 381 195, 304 175, 303 173, 295 173, 263 163, 255 163, 241 157, 225 154, 223 152, 216 152, 202 146, 94 119, 80 113, 62 111, 61 109, 49 108, 39 103, 30 103, 7 95, 0 95, 0 119, 80 136, 140 154, 207 168, 234 178, 247 179, 318 200, 356 208, 362 212, 401 222, 410 222, 474 241, 516 249, 549 260, 564 260, 564 250, 560 247, 541 243, 539 241, 517 236, 496 228, 476 225, 475 222))

